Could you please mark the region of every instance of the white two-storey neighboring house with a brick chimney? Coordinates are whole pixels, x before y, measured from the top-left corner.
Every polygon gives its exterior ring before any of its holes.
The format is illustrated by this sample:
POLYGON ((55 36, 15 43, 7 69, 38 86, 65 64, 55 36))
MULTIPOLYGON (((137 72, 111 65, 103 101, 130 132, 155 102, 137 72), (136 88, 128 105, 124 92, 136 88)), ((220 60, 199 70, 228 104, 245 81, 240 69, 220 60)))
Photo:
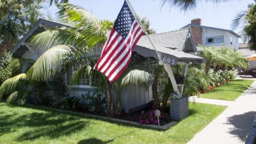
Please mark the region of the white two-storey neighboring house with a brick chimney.
POLYGON ((202 19, 195 18, 191 20, 191 24, 188 24, 183 28, 191 27, 193 39, 196 44, 202 44, 203 46, 223 46, 232 45, 229 48, 239 49, 240 37, 237 33, 228 29, 220 29, 202 25, 202 19))

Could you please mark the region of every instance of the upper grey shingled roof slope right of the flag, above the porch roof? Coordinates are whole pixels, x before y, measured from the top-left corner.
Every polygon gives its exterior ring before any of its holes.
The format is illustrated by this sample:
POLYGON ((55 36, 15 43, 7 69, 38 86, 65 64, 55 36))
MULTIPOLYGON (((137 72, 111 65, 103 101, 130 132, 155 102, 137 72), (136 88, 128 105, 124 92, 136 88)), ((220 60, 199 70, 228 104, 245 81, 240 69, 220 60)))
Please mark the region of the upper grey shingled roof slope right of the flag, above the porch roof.
MULTIPOLYGON (((188 35, 189 28, 173 30, 170 32, 156 33, 149 35, 150 39, 159 44, 164 44, 166 47, 182 51, 188 35)), ((147 36, 142 36, 139 41, 147 40, 147 36)))

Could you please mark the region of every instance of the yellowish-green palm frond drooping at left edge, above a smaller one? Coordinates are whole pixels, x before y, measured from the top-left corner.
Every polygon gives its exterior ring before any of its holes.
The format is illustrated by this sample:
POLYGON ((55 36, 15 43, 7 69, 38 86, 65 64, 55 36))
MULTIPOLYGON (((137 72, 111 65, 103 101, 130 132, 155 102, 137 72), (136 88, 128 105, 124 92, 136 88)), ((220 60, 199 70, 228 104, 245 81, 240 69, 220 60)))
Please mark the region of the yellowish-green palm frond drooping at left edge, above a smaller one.
POLYGON ((4 94, 12 93, 16 89, 18 82, 25 80, 26 78, 26 74, 21 73, 13 78, 5 80, 0 87, 0 99, 4 94))

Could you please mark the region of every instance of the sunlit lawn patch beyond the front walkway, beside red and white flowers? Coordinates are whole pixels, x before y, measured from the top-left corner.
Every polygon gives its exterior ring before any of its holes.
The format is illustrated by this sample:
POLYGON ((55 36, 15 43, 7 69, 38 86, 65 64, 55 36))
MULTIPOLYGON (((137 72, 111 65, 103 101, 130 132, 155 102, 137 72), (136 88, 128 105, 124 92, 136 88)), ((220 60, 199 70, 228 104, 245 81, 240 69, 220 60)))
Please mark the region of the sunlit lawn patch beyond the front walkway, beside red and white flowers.
POLYGON ((254 80, 248 79, 232 80, 201 94, 200 98, 235 101, 253 82, 254 80))

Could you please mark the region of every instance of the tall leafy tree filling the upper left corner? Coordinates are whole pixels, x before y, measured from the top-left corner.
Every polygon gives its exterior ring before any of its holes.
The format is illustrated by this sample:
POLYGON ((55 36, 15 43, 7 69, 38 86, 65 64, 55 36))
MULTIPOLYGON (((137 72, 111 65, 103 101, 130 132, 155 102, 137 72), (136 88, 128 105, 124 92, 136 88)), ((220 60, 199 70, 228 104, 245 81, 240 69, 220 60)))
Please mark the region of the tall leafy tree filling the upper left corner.
POLYGON ((44 0, 0 0, 0 58, 43 14, 44 0))

